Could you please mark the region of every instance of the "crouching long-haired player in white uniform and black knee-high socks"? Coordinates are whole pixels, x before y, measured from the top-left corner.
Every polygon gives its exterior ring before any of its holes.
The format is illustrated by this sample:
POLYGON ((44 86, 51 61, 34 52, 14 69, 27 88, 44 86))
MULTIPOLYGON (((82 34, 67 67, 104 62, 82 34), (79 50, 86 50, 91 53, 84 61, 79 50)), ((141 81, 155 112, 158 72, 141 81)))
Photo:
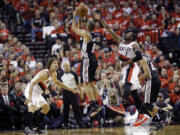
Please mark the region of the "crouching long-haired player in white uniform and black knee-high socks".
POLYGON ((60 88, 72 91, 73 93, 77 93, 76 90, 72 88, 68 88, 63 85, 61 82, 57 80, 56 70, 58 69, 58 60, 56 57, 52 57, 48 60, 47 63, 48 69, 41 70, 27 85, 25 90, 26 101, 25 104, 28 105, 28 125, 25 128, 25 133, 34 134, 36 132, 44 132, 40 128, 42 126, 42 120, 44 116, 49 112, 50 107, 42 93, 48 88, 48 86, 53 81, 54 84, 58 85, 60 88), (37 110, 41 109, 39 113, 38 119, 35 123, 35 132, 31 129, 32 127, 32 117, 33 113, 37 110))

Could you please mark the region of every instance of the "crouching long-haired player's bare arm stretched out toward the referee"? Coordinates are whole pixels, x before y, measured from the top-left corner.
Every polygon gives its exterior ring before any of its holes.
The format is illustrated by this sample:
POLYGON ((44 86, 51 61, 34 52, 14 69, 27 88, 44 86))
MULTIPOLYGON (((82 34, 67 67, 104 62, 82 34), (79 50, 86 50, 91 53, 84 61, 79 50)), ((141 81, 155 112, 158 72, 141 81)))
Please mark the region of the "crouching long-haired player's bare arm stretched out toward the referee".
POLYGON ((77 93, 77 91, 75 89, 72 89, 72 88, 69 88, 67 86, 65 86, 63 83, 61 83, 60 81, 57 80, 57 73, 55 72, 54 75, 53 75, 53 82, 59 86, 60 88, 63 88, 63 89, 66 89, 66 90, 69 90, 73 93, 77 93))

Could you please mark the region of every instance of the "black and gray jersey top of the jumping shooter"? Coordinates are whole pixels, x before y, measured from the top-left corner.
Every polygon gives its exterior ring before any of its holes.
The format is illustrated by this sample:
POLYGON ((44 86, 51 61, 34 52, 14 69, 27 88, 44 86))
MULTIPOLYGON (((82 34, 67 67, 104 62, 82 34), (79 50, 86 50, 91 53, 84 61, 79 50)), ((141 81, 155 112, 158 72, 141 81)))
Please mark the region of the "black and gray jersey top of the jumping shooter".
POLYGON ((81 46, 81 55, 83 58, 89 58, 90 56, 94 55, 95 51, 95 45, 96 45, 96 37, 94 32, 89 33, 91 35, 91 41, 86 43, 84 40, 82 42, 81 46))

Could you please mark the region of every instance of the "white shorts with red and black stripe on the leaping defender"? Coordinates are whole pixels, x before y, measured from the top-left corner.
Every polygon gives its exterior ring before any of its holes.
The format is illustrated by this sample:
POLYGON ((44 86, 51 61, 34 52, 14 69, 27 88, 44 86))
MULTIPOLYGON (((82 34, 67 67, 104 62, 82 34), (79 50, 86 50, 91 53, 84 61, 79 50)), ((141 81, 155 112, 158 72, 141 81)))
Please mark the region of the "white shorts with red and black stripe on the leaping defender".
POLYGON ((138 75, 139 75, 139 67, 136 63, 133 64, 133 66, 126 65, 123 67, 121 71, 123 78, 121 80, 121 83, 129 82, 132 84, 131 90, 140 89, 141 85, 139 83, 138 75))

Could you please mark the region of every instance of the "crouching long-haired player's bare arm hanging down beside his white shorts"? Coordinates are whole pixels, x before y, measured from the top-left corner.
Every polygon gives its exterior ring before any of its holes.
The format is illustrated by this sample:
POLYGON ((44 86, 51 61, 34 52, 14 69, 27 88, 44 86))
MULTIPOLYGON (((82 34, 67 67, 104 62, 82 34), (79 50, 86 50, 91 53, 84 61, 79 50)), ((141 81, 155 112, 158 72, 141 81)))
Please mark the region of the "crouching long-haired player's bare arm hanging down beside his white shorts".
POLYGON ((40 71, 35 78, 30 82, 30 86, 29 86, 29 97, 28 99, 26 99, 25 104, 28 104, 29 102, 32 101, 32 91, 33 91, 33 87, 34 85, 38 84, 40 81, 44 81, 48 78, 48 73, 47 71, 40 71))

